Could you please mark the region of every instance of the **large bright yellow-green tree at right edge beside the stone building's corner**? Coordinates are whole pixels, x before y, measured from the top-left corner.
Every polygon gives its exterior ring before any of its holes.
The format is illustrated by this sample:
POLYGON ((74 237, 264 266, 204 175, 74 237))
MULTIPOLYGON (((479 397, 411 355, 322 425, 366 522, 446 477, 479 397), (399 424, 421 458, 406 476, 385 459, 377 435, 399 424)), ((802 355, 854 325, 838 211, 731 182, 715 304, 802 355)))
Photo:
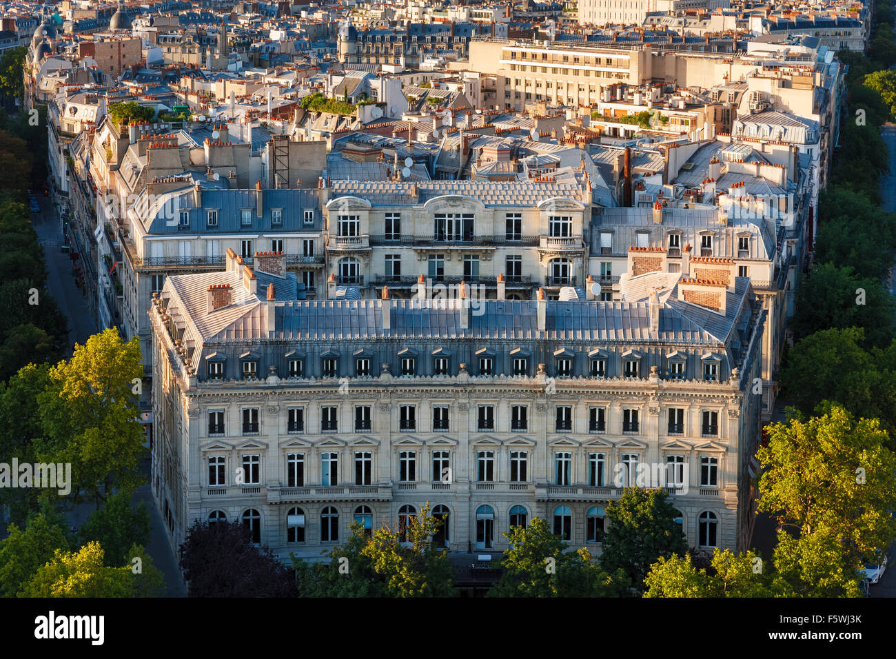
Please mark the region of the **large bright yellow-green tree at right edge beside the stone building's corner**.
POLYGON ((854 573, 896 540, 896 458, 888 443, 879 421, 856 421, 840 405, 771 424, 768 445, 756 453, 758 509, 811 547, 823 544, 814 533, 840 543, 841 566, 854 573))

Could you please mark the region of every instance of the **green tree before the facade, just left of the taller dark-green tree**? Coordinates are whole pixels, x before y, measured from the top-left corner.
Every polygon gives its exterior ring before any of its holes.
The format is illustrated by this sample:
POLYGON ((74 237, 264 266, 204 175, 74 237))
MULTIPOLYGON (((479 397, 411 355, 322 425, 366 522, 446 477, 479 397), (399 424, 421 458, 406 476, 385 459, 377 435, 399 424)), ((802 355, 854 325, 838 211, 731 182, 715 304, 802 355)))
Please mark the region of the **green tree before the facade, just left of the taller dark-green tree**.
POLYGON ((505 568, 491 597, 610 597, 625 593, 621 570, 609 575, 591 560, 588 550, 566 551, 569 545, 534 517, 528 526, 504 532, 508 547, 505 568))

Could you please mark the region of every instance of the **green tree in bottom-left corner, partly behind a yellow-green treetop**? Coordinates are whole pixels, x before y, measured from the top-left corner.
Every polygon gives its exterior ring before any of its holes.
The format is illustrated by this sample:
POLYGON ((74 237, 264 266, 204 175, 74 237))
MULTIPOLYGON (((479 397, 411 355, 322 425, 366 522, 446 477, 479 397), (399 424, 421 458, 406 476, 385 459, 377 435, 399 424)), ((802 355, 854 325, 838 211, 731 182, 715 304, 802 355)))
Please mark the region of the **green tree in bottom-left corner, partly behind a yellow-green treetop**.
POLYGON ((67 550, 68 538, 56 520, 43 514, 30 517, 24 530, 9 525, 0 541, 0 594, 14 597, 56 550, 67 550))

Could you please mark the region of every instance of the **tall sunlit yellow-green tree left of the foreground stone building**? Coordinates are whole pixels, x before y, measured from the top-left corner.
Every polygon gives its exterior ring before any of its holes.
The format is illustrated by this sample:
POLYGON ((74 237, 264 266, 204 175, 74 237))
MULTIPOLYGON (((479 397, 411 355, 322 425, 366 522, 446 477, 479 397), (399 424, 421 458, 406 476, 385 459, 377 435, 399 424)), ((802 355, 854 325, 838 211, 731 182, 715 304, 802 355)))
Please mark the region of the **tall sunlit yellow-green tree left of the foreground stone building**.
POLYGON ((50 386, 39 395, 42 462, 71 463, 73 491, 83 490, 98 509, 113 483, 130 492, 143 480, 138 467, 146 449, 134 393, 142 375, 138 340, 125 343, 108 328, 50 369, 50 386))

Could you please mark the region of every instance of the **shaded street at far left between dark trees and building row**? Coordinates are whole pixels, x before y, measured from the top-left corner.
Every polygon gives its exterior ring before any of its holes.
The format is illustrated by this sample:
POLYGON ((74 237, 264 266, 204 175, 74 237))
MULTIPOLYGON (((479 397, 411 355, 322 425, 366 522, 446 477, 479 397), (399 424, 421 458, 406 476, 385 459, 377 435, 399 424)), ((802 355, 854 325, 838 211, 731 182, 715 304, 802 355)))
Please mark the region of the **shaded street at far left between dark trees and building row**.
POLYGON ((68 318, 69 350, 72 354, 73 343, 84 343, 91 334, 98 332, 97 325, 90 316, 87 301, 81 290, 75 285, 72 276, 72 261, 60 248, 64 244, 62 222, 49 198, 38 196, 40 212, 31 214, 31 224, 38 232, 38 240, 44 247, 47 257, 47 289, 56 299, 59 310, 68 318))

